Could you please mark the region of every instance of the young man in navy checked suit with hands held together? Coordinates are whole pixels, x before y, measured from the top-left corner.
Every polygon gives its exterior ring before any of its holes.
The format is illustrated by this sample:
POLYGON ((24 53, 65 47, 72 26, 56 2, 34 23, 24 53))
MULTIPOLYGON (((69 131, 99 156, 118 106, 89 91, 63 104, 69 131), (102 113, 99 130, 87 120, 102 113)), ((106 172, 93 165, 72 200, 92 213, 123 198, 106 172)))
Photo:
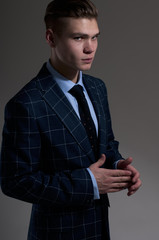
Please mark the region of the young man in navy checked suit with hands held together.
POLYGON ((109 240, 107 193, 141 185, 118 152, 104 83, 82 74, 95 57, 97 15, 90 0, 52 1, 50 60, 6 106, 2 191, 33 204, 28 240, 109 240))

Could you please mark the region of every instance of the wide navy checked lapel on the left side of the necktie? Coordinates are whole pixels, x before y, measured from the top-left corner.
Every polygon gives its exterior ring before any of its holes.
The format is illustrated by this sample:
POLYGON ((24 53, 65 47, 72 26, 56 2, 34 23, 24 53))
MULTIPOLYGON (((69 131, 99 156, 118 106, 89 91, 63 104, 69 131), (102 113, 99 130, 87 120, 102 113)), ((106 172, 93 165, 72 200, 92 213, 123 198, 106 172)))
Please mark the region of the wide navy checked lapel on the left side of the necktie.
POLYGON ((77 144, 85 151, 89 158, 94 162, 95 157, 91 149, 90 142, 72 105, 64 95, 52 75, 43 66, 38 75, 38 88, 42 93, 43 99, 56 112, 59 119, 72 134, 77 144))

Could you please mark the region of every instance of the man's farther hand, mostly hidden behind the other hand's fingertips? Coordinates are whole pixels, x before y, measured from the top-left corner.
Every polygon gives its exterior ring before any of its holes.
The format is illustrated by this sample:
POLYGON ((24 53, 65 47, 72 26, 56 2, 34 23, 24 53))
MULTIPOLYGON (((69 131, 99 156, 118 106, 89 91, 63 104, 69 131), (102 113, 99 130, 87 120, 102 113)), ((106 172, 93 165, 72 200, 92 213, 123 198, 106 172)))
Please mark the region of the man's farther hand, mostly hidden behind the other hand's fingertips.
POLYGON ((120 160, 117 164, 118 169, 128 170, 132 173, 131 184, 128 187, 128 196, 134 194, 141 186, 140 174, 133 166, 131 166, 132 161, 133 159, 129 157, 126 160, 120 160))

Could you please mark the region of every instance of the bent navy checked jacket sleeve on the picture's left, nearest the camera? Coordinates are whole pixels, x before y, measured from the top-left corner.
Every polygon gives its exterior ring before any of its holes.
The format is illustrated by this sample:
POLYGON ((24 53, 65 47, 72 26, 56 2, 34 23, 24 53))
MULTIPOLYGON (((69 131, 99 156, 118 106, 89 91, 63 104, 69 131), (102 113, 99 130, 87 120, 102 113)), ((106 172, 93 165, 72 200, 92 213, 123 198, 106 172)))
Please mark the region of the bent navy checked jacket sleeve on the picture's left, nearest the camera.
POLYGON ((10 101, 5 109, 1 149, 4 194, 54 207, 90 205, 93 185, 86 169, 45 174, 40 165, 41 138, 31 107, 10 101))

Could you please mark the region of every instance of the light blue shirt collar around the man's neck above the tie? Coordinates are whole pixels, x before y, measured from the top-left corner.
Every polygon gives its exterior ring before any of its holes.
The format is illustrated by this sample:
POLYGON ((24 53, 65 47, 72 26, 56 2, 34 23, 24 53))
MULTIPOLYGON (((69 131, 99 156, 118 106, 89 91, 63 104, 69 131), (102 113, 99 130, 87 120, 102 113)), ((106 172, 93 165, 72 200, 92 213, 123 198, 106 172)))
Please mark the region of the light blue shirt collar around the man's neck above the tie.
POLYGON ((62 76, 60 73, 58 73, 53 68, 50 61, 47 62, 46 67, 64 93, 67 93, 72 87, 74 87, 77 84, 81 85, 85 91, 85 87, 84 87, 83 80, 82 80, 82 71, 79 72, 78 83, 74 83, 71 80, 62 76))

